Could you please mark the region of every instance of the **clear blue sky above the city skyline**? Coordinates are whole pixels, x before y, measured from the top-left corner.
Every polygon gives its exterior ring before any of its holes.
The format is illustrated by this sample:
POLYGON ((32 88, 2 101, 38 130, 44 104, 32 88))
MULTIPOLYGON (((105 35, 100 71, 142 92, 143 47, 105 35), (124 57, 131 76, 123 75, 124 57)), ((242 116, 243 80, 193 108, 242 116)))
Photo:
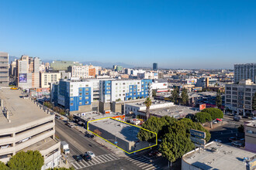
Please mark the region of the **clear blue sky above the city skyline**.
POLYGON ((256 1, 0 0, 0 51, 162 68, 256 62, 256 1))

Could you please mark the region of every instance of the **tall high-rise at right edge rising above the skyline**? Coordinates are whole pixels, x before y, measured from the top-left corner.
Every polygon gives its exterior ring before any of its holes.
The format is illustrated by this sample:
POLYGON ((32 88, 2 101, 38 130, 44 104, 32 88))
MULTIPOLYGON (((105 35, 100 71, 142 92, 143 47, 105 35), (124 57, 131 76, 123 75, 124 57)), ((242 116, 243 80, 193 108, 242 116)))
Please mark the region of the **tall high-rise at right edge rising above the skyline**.
POLYGON ((256 83, 256 63, 235 64, 234 83, 247 79, 251 79, 251 81, 256 83))

